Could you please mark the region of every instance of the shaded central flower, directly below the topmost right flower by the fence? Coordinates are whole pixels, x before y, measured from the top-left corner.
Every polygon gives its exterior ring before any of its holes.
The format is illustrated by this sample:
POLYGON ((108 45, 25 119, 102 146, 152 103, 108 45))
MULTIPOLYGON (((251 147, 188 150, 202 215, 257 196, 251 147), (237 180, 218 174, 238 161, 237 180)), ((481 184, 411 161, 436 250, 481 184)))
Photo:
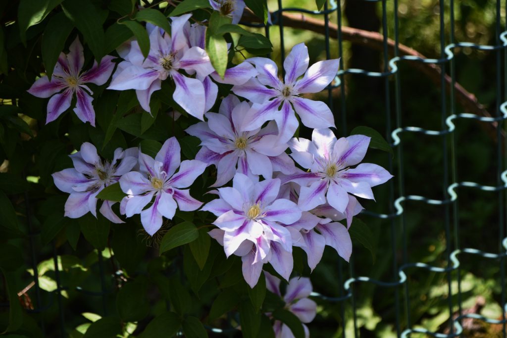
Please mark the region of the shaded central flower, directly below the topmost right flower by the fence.
POLYGON ((207 122, 197 123, 186 130, 202 141, 203 147, 196 159, 208 165, 214 164, 218 169, 212 186, 229 182, 236 170, 250 177, 262 175, 271 178, 273 169, 291 173, 291 164, 295 168, 294 162, 284 153, 287 144, 280 143, 276 137, 274 123, 263 129, 239 131, 249 108, 247 102, 240 102, 236 96, 229 95, 222 101, 219 114, 208 112, 207 122), (287 165, 278 165, 287 162, 289 169, 285 169, 287 165))

